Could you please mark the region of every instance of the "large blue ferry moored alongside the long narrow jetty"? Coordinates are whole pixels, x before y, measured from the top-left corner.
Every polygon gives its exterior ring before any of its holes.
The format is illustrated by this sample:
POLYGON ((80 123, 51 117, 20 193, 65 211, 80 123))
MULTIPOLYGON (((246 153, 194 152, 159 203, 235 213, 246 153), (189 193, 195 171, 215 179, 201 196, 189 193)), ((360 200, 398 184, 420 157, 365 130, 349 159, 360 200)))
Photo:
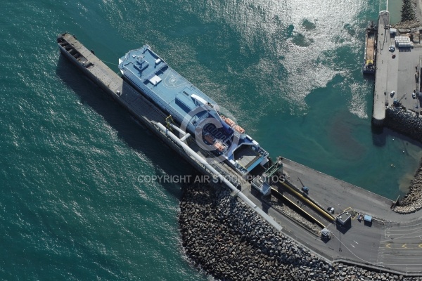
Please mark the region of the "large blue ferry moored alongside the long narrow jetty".
POLYGON ((177 125, 177 131, 193 136, 210 159, 218 157, 241 175, 271 164, 268 152, 234 118, 223 115, 214 100, 167 65, 150 46, 126 53, 119 59, 119 69, 129 84, 169 115, 167 120, 177 125))

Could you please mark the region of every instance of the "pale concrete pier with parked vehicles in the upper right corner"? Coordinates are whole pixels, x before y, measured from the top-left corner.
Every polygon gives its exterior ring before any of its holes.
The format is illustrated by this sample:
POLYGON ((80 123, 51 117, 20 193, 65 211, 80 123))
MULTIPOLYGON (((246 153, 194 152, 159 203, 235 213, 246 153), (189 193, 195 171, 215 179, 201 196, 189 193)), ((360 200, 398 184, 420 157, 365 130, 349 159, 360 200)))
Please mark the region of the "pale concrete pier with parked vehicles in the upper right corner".
POLYGON ((416 113, 421 110, 418 100, 418 72, 422 45, 418 32, 408 31, 390 35, 390 15, 388 11, 380 12, 372 116, 372 122, 376 126, 383 126, 386 117, 385 109, 388 107, 399 106, 416 113), (414 34, 413 46, 398 48, 395 44, 395 36, 408 37, 410 34, 414 34), (396 100, 396 105, 394 105, 394 100, 396 100))

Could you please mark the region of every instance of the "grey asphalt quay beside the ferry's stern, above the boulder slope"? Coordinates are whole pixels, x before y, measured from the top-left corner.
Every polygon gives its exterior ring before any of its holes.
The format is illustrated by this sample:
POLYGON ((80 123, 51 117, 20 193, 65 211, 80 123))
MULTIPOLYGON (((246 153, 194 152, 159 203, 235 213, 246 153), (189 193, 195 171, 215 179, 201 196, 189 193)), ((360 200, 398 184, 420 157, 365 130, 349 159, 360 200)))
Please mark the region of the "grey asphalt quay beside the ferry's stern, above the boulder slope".
MULTIPOLYGON (((258 200, 248 190, 243 190, 250 200, 283 226, 283 233, 328 260, 349 259, 404 273, 422 272, 422 211, 408 215, 396 214, 390 209, 391 200, 289 159, 283 159, 283 171, 298 190, 302 188, 300 181, 309 185, 308 196, 324 209, 335 207, 335 215, 344 210, 351 213, 354 210, 375 218, 372 223, 366 223, 353 216, 348 226, 327 223, 326 227, 331 230, 333 237, 321 240, 267 203, 258 200)), ((290 197, 288 192, 283 192, 283 195, 290 197)), ((295 197, 291 199, 295 200, 295 197)), ((304 208, 312 212, 309 207, 304 208)), ((315 212, 312 214, 317 216, 315 212)))

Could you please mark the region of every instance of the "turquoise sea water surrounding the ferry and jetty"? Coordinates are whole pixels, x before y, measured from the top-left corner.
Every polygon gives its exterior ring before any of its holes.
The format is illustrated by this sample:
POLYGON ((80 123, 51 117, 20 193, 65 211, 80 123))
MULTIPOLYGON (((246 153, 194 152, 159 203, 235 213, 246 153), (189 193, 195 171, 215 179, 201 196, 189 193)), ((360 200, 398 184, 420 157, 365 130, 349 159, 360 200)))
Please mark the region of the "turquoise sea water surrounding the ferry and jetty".
POLYGON ((191 167, 60 57, 58 33, 116 72, 117 58, 150 44, 273 158, 395 199, 422 153, 371 131, 364 27, 383 5, 3 1, 0 279, 207 280, 182 254, 180 185, 137 180, 191 167))

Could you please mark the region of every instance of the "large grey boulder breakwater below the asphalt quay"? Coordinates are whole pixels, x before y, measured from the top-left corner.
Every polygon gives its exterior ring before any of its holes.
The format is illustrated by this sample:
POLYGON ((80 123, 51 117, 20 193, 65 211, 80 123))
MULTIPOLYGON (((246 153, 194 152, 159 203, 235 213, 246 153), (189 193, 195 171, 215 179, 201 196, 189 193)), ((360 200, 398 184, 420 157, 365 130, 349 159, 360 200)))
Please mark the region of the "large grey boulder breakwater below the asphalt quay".
POLYGON ((218 280, 421 280, 331 265, 275 231, 224 188, 184 187, 179 225, 188 259, 218 280))

